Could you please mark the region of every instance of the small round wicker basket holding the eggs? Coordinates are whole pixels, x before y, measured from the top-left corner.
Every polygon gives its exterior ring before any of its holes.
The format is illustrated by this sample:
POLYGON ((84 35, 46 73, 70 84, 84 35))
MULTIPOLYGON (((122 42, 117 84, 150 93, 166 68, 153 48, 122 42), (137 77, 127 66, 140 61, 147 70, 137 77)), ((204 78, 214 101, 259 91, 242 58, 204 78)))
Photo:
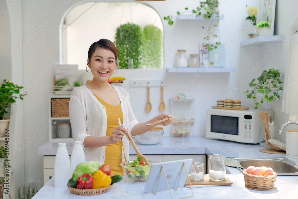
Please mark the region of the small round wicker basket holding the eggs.
POLYGON ((243 171, 245 186, 251 189, 272 189, 276 180, 277 174, 273 175, 252 175, 243 171))

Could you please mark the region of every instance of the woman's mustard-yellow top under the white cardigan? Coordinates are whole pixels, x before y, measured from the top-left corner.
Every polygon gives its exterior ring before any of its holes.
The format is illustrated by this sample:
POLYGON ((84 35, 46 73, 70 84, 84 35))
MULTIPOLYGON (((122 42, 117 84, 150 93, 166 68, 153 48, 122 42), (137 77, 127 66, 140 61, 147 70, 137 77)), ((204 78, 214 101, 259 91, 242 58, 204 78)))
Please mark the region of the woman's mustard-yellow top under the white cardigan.
MULTIPOLYGON (((105 107, 107 113, 107 136, 112 135, 112 131, 115 127, 119 127, 118 118, 120 118, 121 124, 123 123, 123 113, 121 110, 121 103, 117 106, 112 106, 100 99, 97 95, 93 95, 98 101, 105 107)), ((120 163, 122 154, 122 141, 118 141, 116 144, 109 144, 105 146, 105 162, 112 168, 114 175, 124 175, 120 163)))

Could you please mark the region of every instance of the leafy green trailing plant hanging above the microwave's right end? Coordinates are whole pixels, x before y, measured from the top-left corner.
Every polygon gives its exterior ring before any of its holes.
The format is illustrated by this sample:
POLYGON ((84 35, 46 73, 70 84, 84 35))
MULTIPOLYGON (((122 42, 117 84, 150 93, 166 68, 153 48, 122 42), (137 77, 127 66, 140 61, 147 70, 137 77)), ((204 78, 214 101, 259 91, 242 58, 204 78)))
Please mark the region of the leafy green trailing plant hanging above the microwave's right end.
POLYGON ((283 87, 280 86, 283 82, 280 80, 280 72, 279 70, 275 70, 274 68, 267 70, 264 70, 260 77, 257 78, 257 80, 254 78, 249 83, 249 86, 251 87, 251 91, 247 90, 244 93, 247 93, 247 98, 253 98, 255 109, 258 108, 258 106, 261 106, 266 100, 268 103, 271 101, 274 101, 276 99, 280 99, 279 91, 281 92, 283 90, 283 87), (272 92, 272 90, 277 90, 276 92, 272 92), (262 98, 260 102, 257 102, 257 94, 261 94, 262 98))

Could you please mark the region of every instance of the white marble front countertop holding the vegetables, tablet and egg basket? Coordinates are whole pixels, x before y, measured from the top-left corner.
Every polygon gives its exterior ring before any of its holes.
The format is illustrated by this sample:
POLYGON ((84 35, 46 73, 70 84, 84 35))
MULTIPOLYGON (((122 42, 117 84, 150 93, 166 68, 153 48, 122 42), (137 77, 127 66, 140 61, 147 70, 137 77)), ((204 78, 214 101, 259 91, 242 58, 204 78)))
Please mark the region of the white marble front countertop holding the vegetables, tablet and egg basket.
MULTIPOLYGON (((277 176, 275 182, 275 190, 271 191, 257 191, 245 188, 244 177, 240 175, 227 175, 233 184, 225 186, 209 186, 193 188, 193 198, 212 199, 212 198, 297 198, 298 177, 294 176, 277 176)), ((34 196, 32 199, 65 199, 65 198, 121 198, 121 199, 153 199, 153 198, 170 198, 169 191, 157 192, 156 195, 143 194, 145 183, 132 183, 128 178, 123 177, 119 183, 106 193, 93 196, 83 196, 72 194, 67 187, 54 187, 54 177, 51 178, 34 196)), ((173 198, 183 198, 191 196, 190 188, 181 187, 175 191, 171 189, 173 198)))

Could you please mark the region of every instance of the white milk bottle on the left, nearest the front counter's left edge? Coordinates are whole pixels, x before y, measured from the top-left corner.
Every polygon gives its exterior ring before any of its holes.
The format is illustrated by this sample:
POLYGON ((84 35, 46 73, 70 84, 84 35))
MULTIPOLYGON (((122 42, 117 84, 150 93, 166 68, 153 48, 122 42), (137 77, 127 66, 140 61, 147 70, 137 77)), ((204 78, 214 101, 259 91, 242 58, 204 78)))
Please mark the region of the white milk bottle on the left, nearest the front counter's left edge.
POLYGON ((55 187, 67 187, 71 178, 69 155, 65 143, 59 143, 55 157, 54 185, 55 187))

